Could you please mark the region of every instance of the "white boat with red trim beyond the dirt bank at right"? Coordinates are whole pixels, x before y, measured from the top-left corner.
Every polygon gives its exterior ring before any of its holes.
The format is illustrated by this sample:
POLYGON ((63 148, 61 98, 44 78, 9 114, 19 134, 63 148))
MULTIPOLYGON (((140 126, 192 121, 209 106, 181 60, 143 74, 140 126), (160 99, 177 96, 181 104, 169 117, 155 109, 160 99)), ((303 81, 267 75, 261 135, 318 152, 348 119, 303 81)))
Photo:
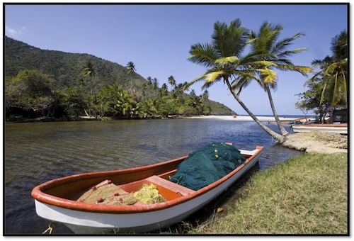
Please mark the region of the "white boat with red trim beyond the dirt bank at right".
POLYGON ((295 133, 309 133, 310 131, 318 130, 329 133, 339 133, 348 135, 348 123, 333 123, 333 124, 298 124, 291 125, 295 133))

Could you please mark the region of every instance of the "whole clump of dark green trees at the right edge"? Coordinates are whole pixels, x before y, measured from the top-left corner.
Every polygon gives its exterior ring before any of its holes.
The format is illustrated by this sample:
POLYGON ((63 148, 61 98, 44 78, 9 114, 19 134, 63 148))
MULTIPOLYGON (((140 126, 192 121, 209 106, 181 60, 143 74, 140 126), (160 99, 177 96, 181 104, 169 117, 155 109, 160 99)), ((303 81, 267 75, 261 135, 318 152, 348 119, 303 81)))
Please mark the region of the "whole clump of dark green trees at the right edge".
POLYGON ((331 41, 331 56, 312 61, 318 68, 305 86, 309 89, 299 94, 297 108, 306 113, 309 110, 324 122, 335 109, 348 108, 348 33, 343 30, 331 41))

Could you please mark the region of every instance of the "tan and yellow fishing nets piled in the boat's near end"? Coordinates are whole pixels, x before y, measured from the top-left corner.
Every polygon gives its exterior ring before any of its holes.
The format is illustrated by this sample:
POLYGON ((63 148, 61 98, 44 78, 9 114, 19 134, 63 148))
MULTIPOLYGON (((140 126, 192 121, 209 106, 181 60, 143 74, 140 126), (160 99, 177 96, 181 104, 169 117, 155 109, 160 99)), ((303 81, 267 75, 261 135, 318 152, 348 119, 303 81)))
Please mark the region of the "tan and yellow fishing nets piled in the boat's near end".
POLYGON ((77 201, 103 205, 133 205, 138 201, 154 204, 166 200, 159 194, 154 184, 144 184, 139 191, 128 193, 110 180, 105 180, 86 191, 77 201))

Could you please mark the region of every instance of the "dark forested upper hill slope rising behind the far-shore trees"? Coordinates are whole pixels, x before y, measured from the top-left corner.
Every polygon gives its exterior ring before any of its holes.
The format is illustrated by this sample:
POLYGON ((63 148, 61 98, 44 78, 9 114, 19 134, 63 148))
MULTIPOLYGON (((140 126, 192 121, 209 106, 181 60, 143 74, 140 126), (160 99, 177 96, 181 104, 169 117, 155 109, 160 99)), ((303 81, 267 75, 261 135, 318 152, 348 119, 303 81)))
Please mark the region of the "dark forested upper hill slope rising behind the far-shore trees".
MULTIPOLYGON (((57 89, 83 86, 84 91, 92 89, 93 94, 97 94, 103 86, 119 84, 131 94, 134 93, 137 99, 139 96, 156 96, 156 93, 161 90, 161 86, 156 89, 156 86, 147 84, 147 79, 136 72, 128 72, 127 67, 118 63, 89 54, 41 50, 5 37, 4 73, 6 79, 16 77, 19 71, 25 69, 38 69, 43 74, 48 74, 57 89), (93 63, 96 76, 88 81, 88 77, 83 77, 82 71, 89 61, 93 63)), ((159 81, 164 82, 161 79, 159 81)), ((210 100, 207 100, 207 103, 211 108, 210 114, 230 115, 234 113, 221 103, 210 100)))

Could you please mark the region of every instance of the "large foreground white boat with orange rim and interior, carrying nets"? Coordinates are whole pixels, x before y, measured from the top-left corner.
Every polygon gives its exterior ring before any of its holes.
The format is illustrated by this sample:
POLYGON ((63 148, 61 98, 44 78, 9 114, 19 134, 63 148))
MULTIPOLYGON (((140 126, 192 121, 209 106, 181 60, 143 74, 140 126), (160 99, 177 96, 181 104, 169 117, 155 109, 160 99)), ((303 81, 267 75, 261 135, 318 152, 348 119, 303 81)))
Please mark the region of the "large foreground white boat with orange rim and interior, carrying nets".
POLYGON ((178 164, 188 157, 184 156, 144 167, 64 176, 36 186, 31 195, 40 217, 64 223, 76 234, 152 232, 181 222, 217 198, 258 164, 262 152, 263 146, 239 150, 239 154, 245 157, 243 164, 197 191, 169 181, 178 164), (144 184, 154 184, 165 200, 153 204, 139 201, 134 205, 77 201, 85 191, 105 184, 115 184, 127 193, 141 189, 144 184))

